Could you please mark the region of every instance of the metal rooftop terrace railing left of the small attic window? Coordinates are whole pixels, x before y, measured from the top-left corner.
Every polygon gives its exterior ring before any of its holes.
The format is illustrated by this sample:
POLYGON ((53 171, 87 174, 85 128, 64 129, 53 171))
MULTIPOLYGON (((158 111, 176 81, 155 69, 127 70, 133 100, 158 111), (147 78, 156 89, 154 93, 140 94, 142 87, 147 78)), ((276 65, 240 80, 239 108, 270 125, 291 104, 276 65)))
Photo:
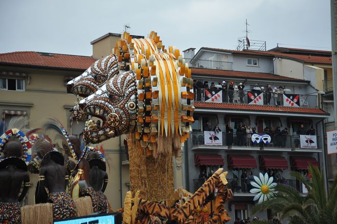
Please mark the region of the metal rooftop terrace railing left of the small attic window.
POLYGON ((211 61, 211 60, 201 60, 201 59, 185 59, 185 62, 189 64, 192 68, 211 68, 219 70, 233 70, 233 62, 228 61, 211 61))

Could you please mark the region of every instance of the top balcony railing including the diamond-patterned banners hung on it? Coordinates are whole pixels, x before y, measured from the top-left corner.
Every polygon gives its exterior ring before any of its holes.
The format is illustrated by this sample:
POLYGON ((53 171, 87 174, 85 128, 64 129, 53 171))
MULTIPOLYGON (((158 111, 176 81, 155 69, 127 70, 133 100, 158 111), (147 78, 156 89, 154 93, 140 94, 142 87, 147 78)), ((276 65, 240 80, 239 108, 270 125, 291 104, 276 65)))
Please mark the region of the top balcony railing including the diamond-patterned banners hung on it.
POLYGON ((234 90, 221 90, 217 95, 221 98, 215 99, 211 94, 212 90, 218 91, 218 88, 195 88, 194 101, 195 102, 217 102, 217 103, 235 103, 235 104, 259 104, 259 105, 272 105, 272 106, 299 106, 305 108, 316 108, 318 107, 317 96, 316 95, 298 95, 298 100, 293 99, 293 102, 288 101, 284 104, 283 93, 272 93, 272 92, 256 92, 257 95, 262 93, 261 98, 255 98, 252 100, 252 95, 255 93, 253 91, 234 91, 234 90), (252 101, 257 101, 252 102, 252 101), (295 105, 296 104, 296 105, 295 105))

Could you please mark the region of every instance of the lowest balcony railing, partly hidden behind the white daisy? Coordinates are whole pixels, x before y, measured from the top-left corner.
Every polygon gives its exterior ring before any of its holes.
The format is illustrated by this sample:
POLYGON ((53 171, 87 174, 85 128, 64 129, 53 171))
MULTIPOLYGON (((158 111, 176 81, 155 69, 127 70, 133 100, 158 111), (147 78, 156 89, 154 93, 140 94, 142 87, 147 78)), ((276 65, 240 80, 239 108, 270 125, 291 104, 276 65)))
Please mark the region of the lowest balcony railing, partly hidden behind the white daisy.
MULTIPOLYGON (((194 191, 197 191, 199 187, 201 187, 201 185, 205 183, 206 180, 207 180, 206 178, 193 179, 194 191)), ((250 183, 253 180, 234 178, 234 179, 227 179, 227 181, 228 187, 231 188, 233 193, 250 193, 250 190, 254 188, 250 183)), ((299 180, 274 179, 274 183, 288 185, 295 188, 300 193, 305 193, 305 189, 303 189, 302 182, 299 180)))

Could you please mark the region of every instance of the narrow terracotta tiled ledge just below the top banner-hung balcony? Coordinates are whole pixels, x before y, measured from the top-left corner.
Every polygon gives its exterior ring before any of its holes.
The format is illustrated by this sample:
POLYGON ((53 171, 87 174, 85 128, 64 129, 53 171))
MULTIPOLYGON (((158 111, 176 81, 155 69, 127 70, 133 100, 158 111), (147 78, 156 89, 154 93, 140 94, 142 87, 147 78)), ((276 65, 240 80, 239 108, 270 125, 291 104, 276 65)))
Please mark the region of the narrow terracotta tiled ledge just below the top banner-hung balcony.
POLYGON ((298 113, 298 114, 318 114, 328 115, 319 108, 303 108, 290 106, 268 106, 268 105, 248 105, 234 103, 212 103, 212 102, 194 102, 195 108, 212 108, 212 109, 229 109, 243 111, 263 111, 263 112, 281 112, 281 113, 298 113))

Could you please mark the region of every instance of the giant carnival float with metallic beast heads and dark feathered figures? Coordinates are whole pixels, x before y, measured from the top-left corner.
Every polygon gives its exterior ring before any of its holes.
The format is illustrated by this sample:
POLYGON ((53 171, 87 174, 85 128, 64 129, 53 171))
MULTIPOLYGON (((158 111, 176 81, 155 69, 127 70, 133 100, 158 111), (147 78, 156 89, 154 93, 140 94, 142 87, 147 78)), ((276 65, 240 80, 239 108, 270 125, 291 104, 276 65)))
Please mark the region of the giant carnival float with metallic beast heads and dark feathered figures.
POLYGON ((85 121, 82 149, 51 118, 34 130, 14 121, 0 137, 0 223, 61 224, 92 214, 112 214, 112 223, 124 224, 230 221, 225 203, 232 191, 222 168, 194 193, 174 189, 172 157, 194 122, 192 85, 180 51, 165 48, 157 33, 146 39, 123 33, 110 55, 67 83, 78 99, 71 120, 85 121), (112 210, 104 195, 105 156, 92 145, 121 135, 127 136, 131 190, 124 206, 112 210), (35 204, 21 206, 28 172, 39 174, 35 204))

